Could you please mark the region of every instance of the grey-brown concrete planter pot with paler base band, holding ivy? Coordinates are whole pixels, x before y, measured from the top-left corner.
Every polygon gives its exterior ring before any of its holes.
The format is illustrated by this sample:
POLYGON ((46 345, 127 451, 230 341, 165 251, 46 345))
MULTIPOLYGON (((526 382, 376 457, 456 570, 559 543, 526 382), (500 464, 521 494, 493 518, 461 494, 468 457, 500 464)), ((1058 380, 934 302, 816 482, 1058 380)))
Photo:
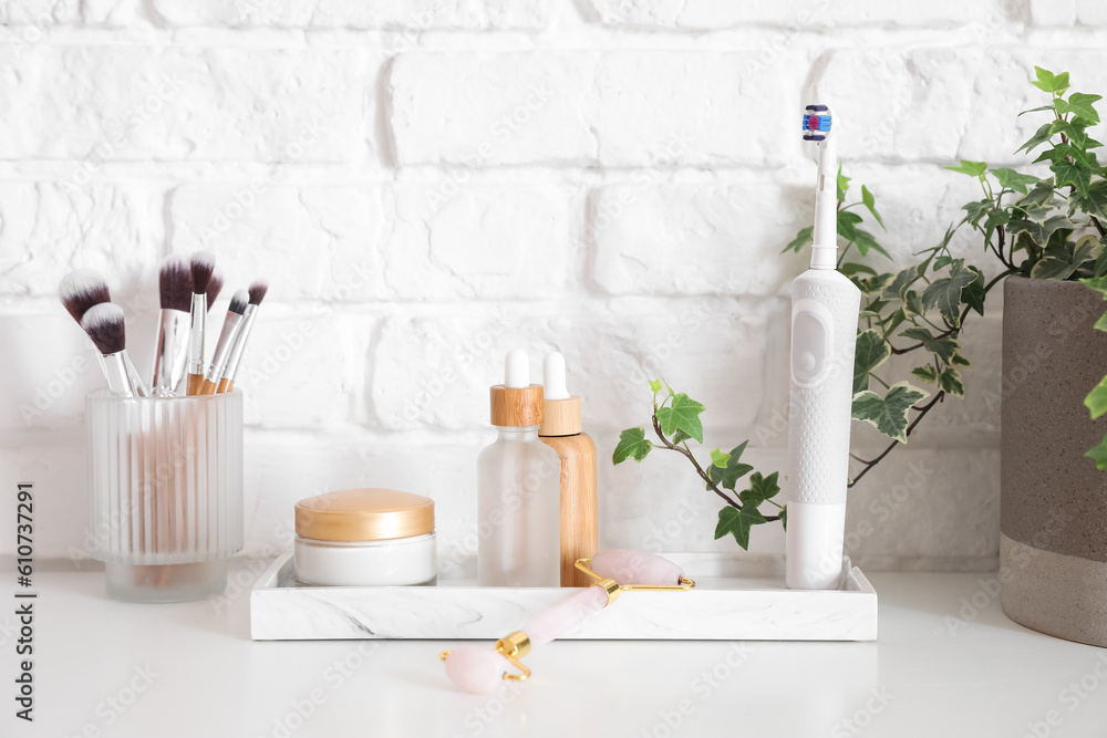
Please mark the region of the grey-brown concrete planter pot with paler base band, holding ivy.
POLYGON ((1000 581, 1011 620, 1107 646, 1107 428, 1084 397, 1107 371, 1107 303, 1078 282, 1003 285, 1000 581))

